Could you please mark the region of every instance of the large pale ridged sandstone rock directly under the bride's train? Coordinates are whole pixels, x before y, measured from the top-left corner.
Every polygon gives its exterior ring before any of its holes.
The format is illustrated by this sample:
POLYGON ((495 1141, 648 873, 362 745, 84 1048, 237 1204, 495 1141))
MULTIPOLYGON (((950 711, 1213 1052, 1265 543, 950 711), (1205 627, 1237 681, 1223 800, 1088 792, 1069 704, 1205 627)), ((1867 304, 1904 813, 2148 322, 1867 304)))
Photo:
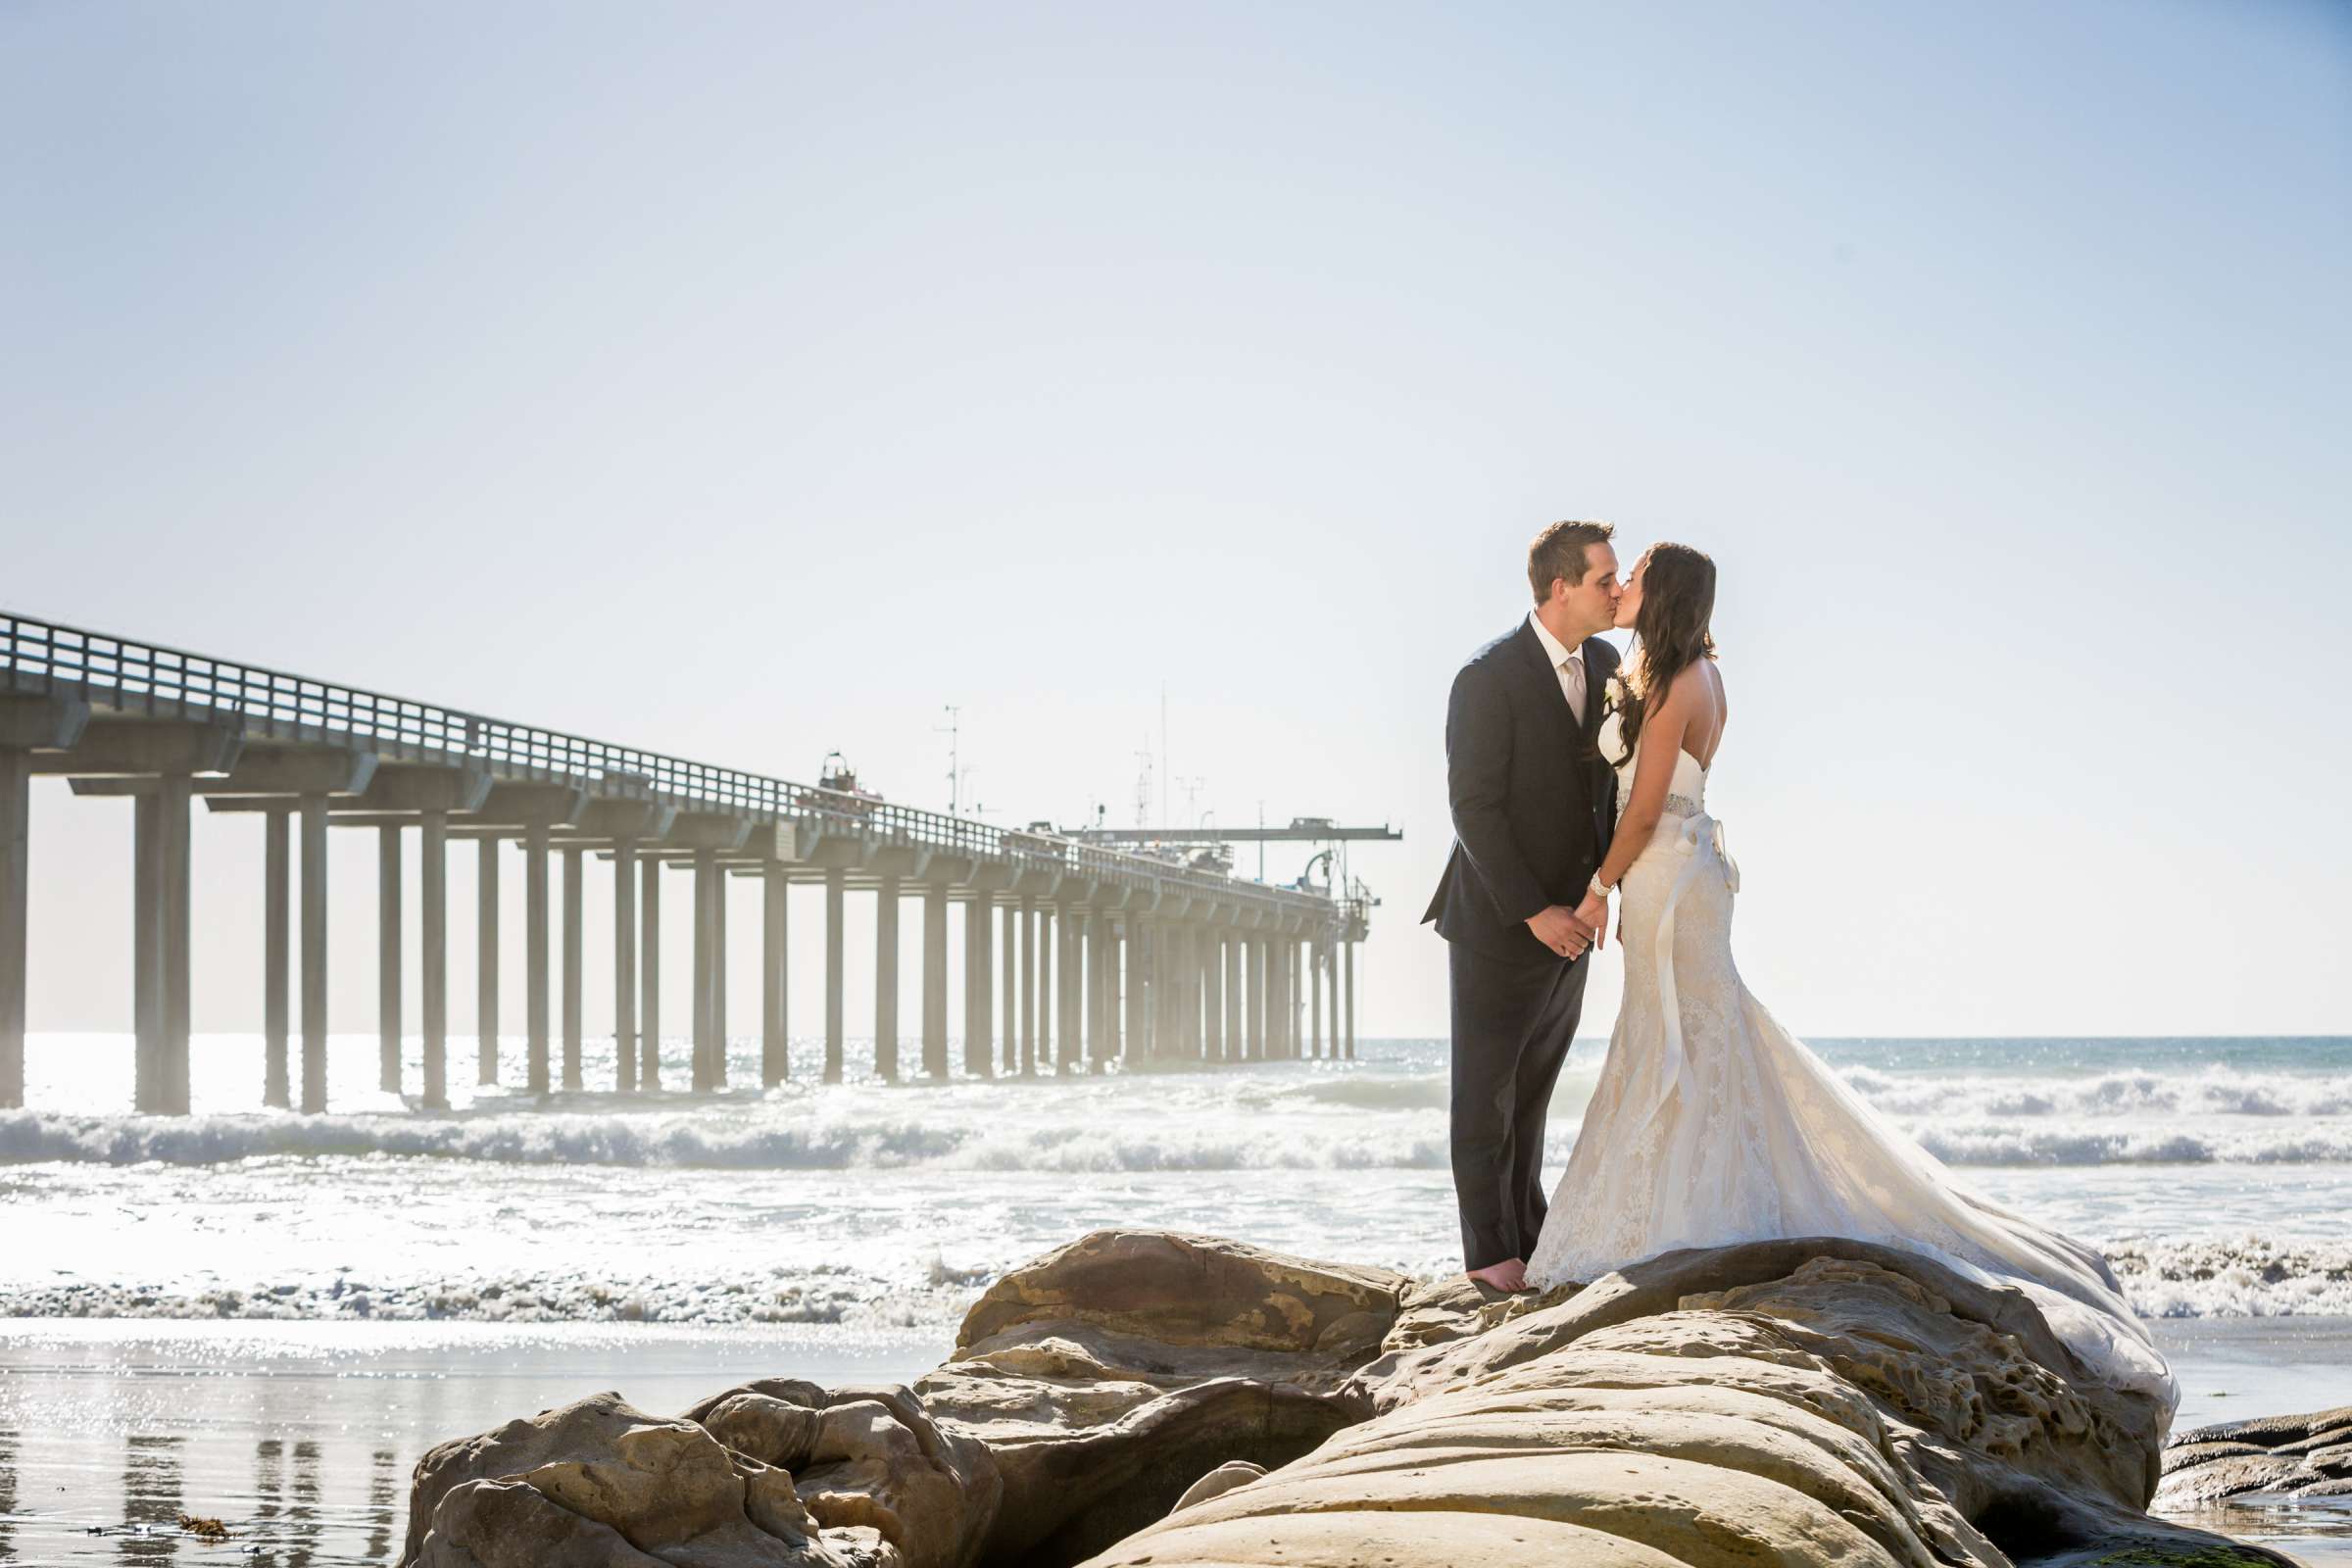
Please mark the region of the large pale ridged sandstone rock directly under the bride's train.
POLYGON ((1371 1420, 1094 1563, 2284 1561, 2140 1514, 2152 1401, 2084 1380, 2023 1293, 1893 1248, 1682 1253, 1517 1312, 1409 1298, 1355 1382, 1371 1420))

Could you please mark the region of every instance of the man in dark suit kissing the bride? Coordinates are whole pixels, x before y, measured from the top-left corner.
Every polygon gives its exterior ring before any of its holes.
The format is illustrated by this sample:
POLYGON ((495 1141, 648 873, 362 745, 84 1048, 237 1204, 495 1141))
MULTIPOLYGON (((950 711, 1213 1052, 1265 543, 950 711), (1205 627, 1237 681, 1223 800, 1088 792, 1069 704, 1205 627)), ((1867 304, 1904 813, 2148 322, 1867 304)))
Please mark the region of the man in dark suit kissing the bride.
POLYGON ((1423 922, 1454 973, 1454 1199, 1470 1279, 1526 1284, 1543 1234, 1543 1119, 1599 938, 1573 914, 1609 851, 1616 773, 1595 745, 1618 654, 1606 522, 1526 548, 1536 609, 1479 649, 1446 698, 1454 856, 1423 922))

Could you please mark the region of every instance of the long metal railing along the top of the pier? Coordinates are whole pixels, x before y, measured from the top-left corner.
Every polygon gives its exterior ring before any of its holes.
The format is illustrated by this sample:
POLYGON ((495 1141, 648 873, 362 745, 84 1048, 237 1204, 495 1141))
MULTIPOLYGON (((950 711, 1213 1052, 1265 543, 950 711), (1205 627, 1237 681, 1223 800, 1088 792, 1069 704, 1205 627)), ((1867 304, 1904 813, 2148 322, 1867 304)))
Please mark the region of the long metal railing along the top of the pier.
POLYGON ((993 827, 946 811, 746 773, 635 745, 513 724, 480 712, 362 691, 207 654, 111 637, 0 611, 0 691, 75 691, 122 712, 242 719, 259 738, 348 743, 419 762, 482 762, 532 778, 612 790, 640 785, 713 811, 856 827, 889 844, 948 849, 988 860, 1061 865, 1096 879, 1152 879, 1211 893, 1247 891, 1291 907, 1329 912, 1329 900, 1080 844, 1035 830, 993 827))

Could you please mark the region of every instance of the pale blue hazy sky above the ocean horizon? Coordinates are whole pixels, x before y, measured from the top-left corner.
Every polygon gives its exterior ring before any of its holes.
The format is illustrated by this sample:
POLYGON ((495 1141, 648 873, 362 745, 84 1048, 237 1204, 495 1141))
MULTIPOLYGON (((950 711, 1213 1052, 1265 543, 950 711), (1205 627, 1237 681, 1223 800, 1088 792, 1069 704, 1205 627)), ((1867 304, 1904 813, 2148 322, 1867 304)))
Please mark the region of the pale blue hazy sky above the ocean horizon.
MULTIPOLYGON (((1018 820, 1164 684, 1223 820, 1406 830, 1421 1034, 1446 682, 1611 517, 1722 567, 1792 1027, 2347 1030, 2347 165, 2288 0, 5 5, 0 604, 924 804, 953 701, 1018 820)), ((35 1030, 127 1023, 127 818, 35 797, 35 1030)))

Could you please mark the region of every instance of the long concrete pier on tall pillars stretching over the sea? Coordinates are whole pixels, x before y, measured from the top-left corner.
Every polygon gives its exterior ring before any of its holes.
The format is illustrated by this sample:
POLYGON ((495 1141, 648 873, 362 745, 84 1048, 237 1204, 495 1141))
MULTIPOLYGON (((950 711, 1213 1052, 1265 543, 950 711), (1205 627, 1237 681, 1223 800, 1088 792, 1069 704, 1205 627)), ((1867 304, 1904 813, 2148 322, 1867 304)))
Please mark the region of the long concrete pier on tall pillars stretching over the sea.
MULTIPOLYGON (((877 922, 875 1065, 896 1074, 896 905, 922 896, 922 1072, 950 1077, 948 985, 962 985, 962 1072, 1084 1072, 1112 1060, 1200 1063, 1352 1053, 1355 940, 1367 898, 1232 879, 1047 827, 1009 830, 310 677, 151 649, 0 614, 0 1105, 24 1100, 31 778, 132 799, 134 1105, 188 1110, 193 799, 263 813, 261 1095, 332 1110, 327 1084, 327 830, 376 830, 379 1086, 447 1107, 447 858, 475 842, 475 1077, 501 1079, 501 842, 524 875, 522 1084, 583 1093, 586 882, 614 865, 616 1093, 661 1088, 661 870, 694 870, 689 1081, 727 1084, 727 886, 762 884, 762 1084, 790 1074, 790 884, 826 889, 826 1077, 842 1077, 842 903, 889 886, 877 922), (421 1013, 405 1013, 402 835, 416 827, 421 1013), (562 856, 562 907, 550 858, 562 856), (915 886, 906 886, 913 879, 915 886), (948 907, 962 959, 948 961, 948 907), (1002 912, 1002 917, 1000 917, 1002 912), (294 940, 299 931, 299 943, 294 940), (294 952, 301 952, 299 969, 294 952), (550 959, 557 959, 553 964, 550 959), (1298 997, 1305 961, 1310 997, 1298 997), (555 971, 562 992, 555 990, 555 971), (1329 997, 1327 997, 1329 990, 1329 997), (1301 1023, 1301 1006, 1308 1023, 1301 1023), (560 1025, 557 1025, 560 1018, 560 1025), (289 1027, 292 1025, 292 1027, 289 1027), (555 1072, 553 1037, 562 1037, 555 1072), (294 1058, 294 1037, 301 1039, 294 1058), (1002 1041, 1002 1051, 997 1048, 1002 1041)), ((209 851, 207 851, 209 853, 209 851)), ((212 867, 207 865, 207 872, 212 867)), ((595 940, 602 940, 597 933, 595 940)), ((753 947, 748 945, 746 952, 753 947)))

